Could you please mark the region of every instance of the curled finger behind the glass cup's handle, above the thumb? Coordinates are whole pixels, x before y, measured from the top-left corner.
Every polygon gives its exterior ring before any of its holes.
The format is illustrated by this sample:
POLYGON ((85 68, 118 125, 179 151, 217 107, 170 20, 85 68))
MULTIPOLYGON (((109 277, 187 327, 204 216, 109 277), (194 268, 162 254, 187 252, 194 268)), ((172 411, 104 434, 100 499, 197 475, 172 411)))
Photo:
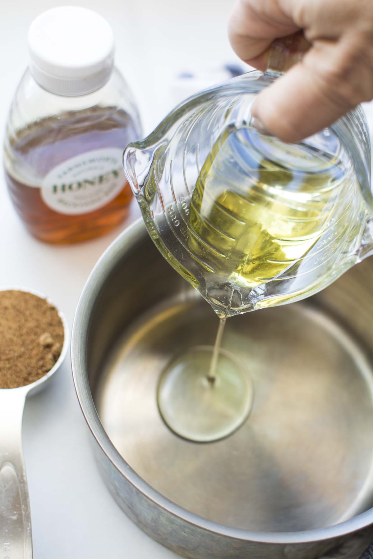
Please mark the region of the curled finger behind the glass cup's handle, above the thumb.
POLYGON ((250 2, 239 0, 228 24, 229 40, 235 53, 259 70, 266 70, 272 41, 298 31, 275 0, 250 2))

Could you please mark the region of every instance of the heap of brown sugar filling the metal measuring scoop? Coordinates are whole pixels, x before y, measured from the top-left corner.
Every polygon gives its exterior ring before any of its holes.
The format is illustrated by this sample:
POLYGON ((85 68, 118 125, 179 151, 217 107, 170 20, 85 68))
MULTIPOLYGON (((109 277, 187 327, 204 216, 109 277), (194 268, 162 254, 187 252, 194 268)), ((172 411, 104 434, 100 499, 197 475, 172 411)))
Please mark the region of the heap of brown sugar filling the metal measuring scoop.
POLYGON ((64 326, 53 305, 26 291, 0 291, 0 389, 46 375, 63 342, 64 326))

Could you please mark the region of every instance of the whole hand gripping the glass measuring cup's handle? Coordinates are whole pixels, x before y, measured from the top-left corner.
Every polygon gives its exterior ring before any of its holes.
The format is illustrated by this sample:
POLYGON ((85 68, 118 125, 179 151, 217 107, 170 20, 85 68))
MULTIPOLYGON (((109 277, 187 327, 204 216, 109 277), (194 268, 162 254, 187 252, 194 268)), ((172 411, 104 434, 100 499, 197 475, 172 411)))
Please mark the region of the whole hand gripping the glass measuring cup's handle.
POLYGON ((242 60, 265 71, 273 40, 300 29, 310 49, 252 106, 259 130, 289 142, 373 98, 372 0, 238 0, 229 39, 242 60))

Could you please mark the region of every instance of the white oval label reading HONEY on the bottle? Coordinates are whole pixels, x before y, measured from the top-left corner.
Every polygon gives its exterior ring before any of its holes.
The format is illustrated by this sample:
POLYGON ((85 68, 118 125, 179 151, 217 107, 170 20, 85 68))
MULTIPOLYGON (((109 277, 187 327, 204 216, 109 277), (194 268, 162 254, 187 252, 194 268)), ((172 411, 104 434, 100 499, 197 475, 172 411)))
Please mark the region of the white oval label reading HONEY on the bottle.
POLYGON ((57 165, 41 185, 44 203, 59 214, 88 214, 106 206, 125 186, 123 150, 86 151, 57 165))

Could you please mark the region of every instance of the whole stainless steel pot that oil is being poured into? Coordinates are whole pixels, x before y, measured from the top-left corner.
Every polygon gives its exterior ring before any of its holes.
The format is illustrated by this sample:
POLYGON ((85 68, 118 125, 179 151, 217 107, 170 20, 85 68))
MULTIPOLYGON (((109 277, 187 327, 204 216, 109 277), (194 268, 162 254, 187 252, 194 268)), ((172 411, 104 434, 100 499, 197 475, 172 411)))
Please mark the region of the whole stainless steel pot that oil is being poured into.
POLYGON ((141 222, 111 245, 78 305, 72 363, 130 518, 194 559, 316 559, 352 544, 358 558, 373 531, 372 274, 368 259, 307 301, 229 319, 223 347, 249 364, 253 410, 198 444, 166 427, 155 389, 171 354, 213 342, 218 319, 141 222))

